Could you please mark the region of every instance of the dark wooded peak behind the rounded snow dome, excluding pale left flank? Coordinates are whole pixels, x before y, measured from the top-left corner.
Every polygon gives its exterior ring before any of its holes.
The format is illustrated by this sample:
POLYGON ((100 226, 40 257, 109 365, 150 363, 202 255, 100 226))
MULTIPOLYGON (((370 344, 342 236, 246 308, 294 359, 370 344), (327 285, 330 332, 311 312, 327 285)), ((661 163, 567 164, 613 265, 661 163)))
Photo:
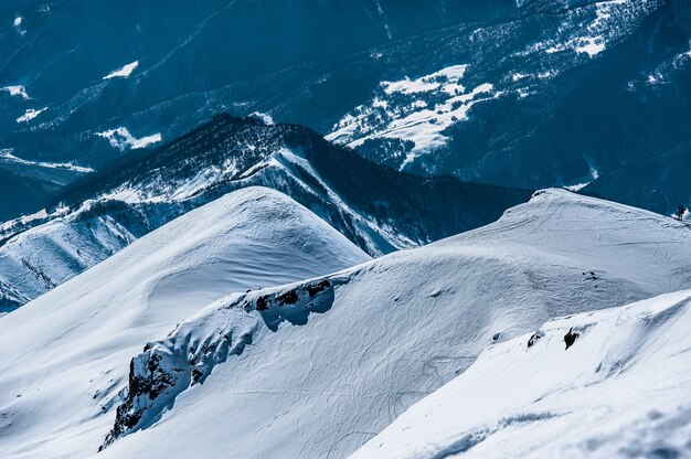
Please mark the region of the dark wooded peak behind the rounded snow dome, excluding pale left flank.
POLYGON ((54 200, 198 206, 249 184, 294 196, 372 254, 490 223, 529 191, 422 178, 382 167, 295 125, 219 115, 152 151, 132 153, 54 200))

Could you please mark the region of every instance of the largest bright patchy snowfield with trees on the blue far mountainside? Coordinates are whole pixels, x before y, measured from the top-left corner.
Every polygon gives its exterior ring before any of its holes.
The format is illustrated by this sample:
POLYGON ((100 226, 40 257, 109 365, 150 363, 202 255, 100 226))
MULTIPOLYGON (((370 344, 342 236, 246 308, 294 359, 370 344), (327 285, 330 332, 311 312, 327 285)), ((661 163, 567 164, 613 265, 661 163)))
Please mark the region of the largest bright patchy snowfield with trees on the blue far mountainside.
POLYGON ((375 138, 411 142, 404 168, 424 152, 444 146, 448 141, 444 130, 467 119, 475 104, 501 95, 490 83, 468 92, 460 84, 466 70, 466 65, 454 65, 415 79, 382 82, 371 102, 346 115, 327 139, 349 147, 375 138))

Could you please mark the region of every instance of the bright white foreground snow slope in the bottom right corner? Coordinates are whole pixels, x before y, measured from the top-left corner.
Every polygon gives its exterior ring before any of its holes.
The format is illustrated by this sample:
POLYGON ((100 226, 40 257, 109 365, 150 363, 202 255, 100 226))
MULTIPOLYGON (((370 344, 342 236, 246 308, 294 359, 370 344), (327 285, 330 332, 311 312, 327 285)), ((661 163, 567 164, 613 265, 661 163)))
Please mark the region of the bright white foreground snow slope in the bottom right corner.
POLYGON ((691 456, 691 291, 545 323, 483 352, 352 459, 691 456), (577 333, 566 349, 568 333, 577 333))

